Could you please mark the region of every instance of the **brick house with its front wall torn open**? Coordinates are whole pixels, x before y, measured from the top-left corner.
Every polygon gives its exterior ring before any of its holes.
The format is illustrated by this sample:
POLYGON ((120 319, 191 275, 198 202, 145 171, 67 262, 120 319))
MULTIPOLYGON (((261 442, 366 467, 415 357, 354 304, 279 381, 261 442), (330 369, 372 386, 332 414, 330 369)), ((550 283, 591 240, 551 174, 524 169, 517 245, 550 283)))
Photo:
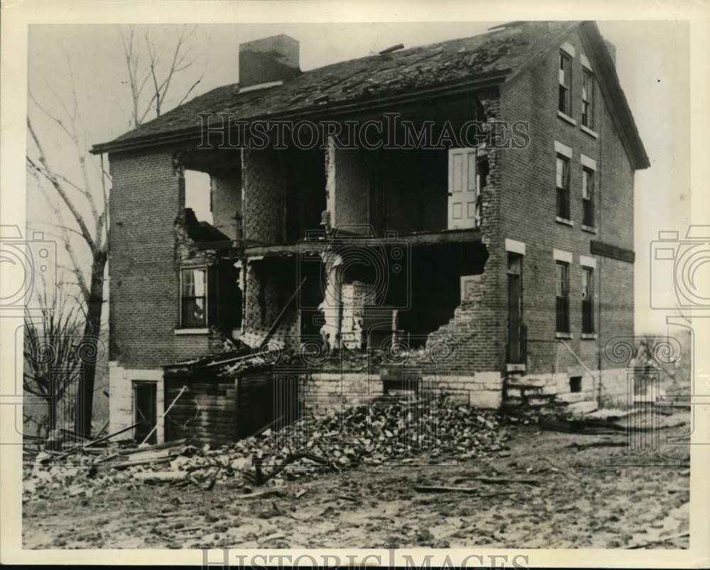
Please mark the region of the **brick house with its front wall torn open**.
POLYGON ((494 408, 624 393, 603 347, 633 334, 649 161, 596 24, 512 23, 308 72, 298 55, 285 35, 242 44, 239 84, 94 146, 113 177, 111 429, 227 441, 428 382, 494 408), (388 112, 527 121, 529 141, 205 148, 200 118, 388 112), (211 221, 186 206, 191 171, 209 175, 211 221))

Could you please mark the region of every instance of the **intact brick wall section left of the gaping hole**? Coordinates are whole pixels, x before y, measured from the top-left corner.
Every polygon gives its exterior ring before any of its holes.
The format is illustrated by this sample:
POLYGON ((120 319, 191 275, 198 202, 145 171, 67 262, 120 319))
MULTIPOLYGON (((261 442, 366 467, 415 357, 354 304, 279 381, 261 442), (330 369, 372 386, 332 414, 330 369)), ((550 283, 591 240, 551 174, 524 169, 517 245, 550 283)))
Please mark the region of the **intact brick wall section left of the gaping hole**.
POLYGON ((185 203, 173 150, 112 153, 109 253, 109 359, 124 368, 158 368, 204 356, 221 342, 175 335, 180 281, 175 220, 185 203))

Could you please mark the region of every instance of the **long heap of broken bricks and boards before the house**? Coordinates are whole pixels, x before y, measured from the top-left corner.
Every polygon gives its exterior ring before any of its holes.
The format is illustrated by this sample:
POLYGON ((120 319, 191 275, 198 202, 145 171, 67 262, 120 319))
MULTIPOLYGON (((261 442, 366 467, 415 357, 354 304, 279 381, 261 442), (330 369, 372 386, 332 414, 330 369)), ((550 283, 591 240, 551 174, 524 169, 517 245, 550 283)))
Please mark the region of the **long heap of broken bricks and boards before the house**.
POLYGON ((361 464, 438 464, 498 456, 507 453, 508 437, 496 413, 446 398, 386 402, 305 417, 280 432, 266 429, 219 449, 183 439, 133 449, 113 444, 70 454, 40 453, 26 466, 24 491, 27 497, 91 497, 146 483, 249 488, 361 464))

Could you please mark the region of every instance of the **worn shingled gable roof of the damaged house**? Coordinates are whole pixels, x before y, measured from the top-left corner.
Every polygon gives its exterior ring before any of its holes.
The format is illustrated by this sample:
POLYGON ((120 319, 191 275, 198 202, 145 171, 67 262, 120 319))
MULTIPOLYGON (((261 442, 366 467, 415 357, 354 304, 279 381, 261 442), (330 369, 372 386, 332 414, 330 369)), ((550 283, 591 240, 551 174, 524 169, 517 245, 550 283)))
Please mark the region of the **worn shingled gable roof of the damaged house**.
MULTIPOLYGON (((97 144, 93 153, 127 150, 182 141, 200 135, 200 114, 230 114, 236 121, 295 119, 296 117, 351 111, 392 104, 417 97, 450 94, 457 87, 502 83, 537 61, 560 38, 581 22, 547 22, 523 26, 513 22, 491 28, 471 38, 447 40, 415 48, 371 55, 303 72, 283 84, 240 92, 239 84, 217 87, 190 102, 124 133, 97 144)), ((593 43, 601 41, 611 64, 609 92, 623 99, 619 116, 633 127, 626 142, 637 168, 648 166, 648 157, 635 131, 633 117, 623 98, 616 70, 596 24, 587 26, 593 43), (596 38, 594 35, 598 35, 596 38), (645 159, 645 160, 644 160, 645 159), (645 166, 643 163, 646 163, 645 166)), ((603 57, 602 50, 599 50, 603 57)), ((608 65, 603 65, 609 73, 608 65)))

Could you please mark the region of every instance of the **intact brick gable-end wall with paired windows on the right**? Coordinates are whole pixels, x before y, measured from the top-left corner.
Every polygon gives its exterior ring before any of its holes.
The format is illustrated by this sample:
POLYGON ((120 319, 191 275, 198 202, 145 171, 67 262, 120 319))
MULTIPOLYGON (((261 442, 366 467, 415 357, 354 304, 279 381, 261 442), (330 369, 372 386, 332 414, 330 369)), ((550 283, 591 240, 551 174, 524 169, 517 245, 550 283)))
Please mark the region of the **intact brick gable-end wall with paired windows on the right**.
MULTIPOLYGON (((565 342, 586 366, 591 370, 599 368, 599 347, 603 348, 608 336, 633 334, 633 264, 594 256, 594 320, 599 338, 580 338, 582 269, 579 256, 592 257, 589 242, 593 239, 633 249, 633 168, 601 98, 598 84, 594 89, 594 130, 599 136, 594 138, 581 129, 580 54, 590 55, 577 32, 570 34, 566 41, 575 48, 571 102, 576 125, 557 116, 559 62, 556 50, 552 50, 532 70, 503 87, 502 94, 503 119, 530 121, 531 141, 528 148, 501 151, 503 191, 500 228, 503 239, 515 239, 526 244, 523 322, 528 325, 528 373, 532 374, 552 373, 555 367, 557 371, 566 371, 567 368, 579 366, 564 346, 554 342, 553 248, 573 254, 573 263, 569 267, 570 330, 573 338, 565 342), (572 148, 569 162, 570 217, 574 226, 555 221, 555 141, 572 148), (581 229, 581 154, 596 161, 596 234, 581 229)), ((594 68, 593 60, 591 66, 594 68)), ((491 270, 489 265, 490 262, 486 265, 486 273, 491 270)), ((505 268, 501 280, 504 272, 505 268)), ((602 362, 602 366, 605 364, 602 362)))

